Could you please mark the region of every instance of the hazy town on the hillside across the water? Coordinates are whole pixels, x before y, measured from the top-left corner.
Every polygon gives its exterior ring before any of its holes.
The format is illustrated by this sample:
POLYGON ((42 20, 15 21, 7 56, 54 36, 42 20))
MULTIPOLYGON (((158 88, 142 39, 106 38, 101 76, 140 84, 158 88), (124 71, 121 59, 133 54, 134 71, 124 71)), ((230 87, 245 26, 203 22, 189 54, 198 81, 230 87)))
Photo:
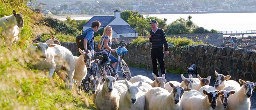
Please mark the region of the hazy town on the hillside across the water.
POLYGON ((141 14, 256 12, 255 0, 38 0, 33 10, 44 14, 113 14, 114 9, 141 14))

